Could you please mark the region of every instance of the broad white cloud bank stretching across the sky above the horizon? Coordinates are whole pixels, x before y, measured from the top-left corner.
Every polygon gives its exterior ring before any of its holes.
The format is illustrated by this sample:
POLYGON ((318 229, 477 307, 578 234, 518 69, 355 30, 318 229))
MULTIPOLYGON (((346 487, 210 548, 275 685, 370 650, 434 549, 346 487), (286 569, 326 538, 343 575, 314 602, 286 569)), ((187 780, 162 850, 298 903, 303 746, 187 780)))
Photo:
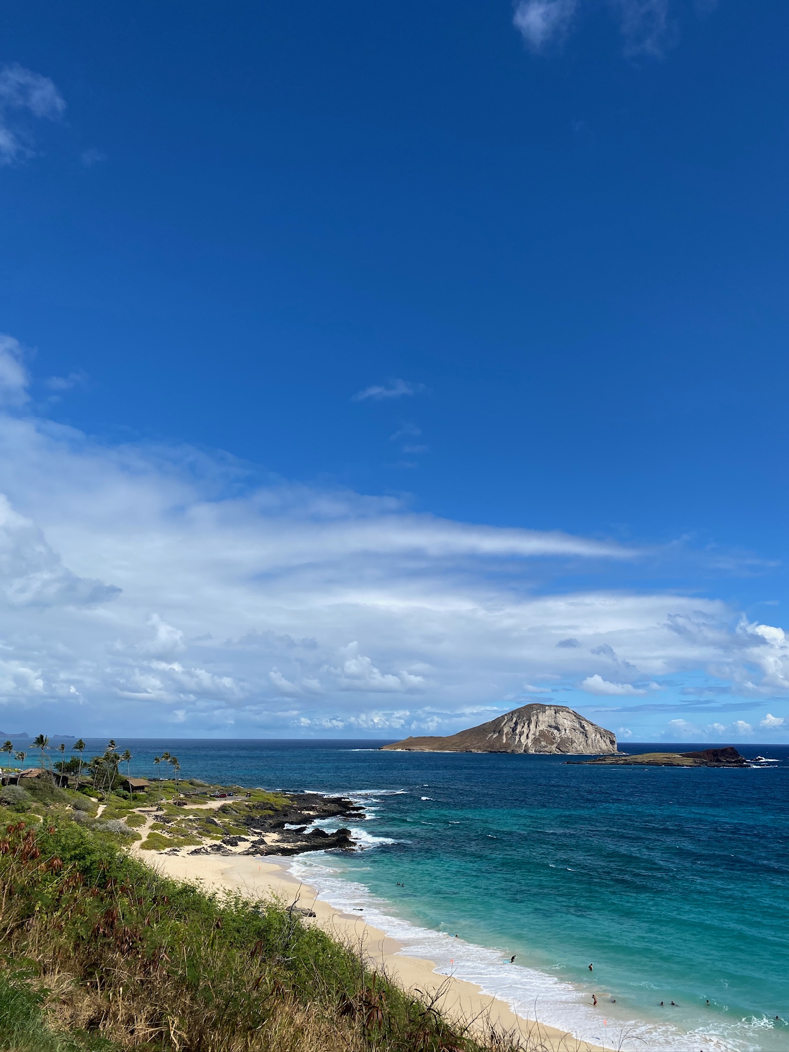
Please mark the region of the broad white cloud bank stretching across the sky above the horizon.
MULTIPOLYGON (((27 386, 4 338, 6 731, 400 736, 535 700, 604 711, 601 699, 614 724, 664 699, 676 712, 686 691, 696 716, 741 697, 764 709, 760 733, 786 735, 782 628, 714 598, 546 585, 568 567, 627 569, 645 550, 260 483, 185 446, 102 444, 28 411, 27 386)), ((693 726, 747 736, 739 723, 693 726)))

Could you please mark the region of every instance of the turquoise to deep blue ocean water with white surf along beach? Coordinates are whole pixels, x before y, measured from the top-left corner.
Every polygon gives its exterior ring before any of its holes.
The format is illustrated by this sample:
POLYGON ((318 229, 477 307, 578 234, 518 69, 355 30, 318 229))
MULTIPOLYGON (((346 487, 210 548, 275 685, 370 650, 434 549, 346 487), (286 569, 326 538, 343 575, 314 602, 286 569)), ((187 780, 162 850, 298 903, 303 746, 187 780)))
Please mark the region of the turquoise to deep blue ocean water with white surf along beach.
POLYGON ((609 1047, 789 1052, 789 747, 688 770, 380 744, 118 742, 133 774, 166 748, 184 777, 357 796, 365 850, 294 871, 522 1014, 609 1047))

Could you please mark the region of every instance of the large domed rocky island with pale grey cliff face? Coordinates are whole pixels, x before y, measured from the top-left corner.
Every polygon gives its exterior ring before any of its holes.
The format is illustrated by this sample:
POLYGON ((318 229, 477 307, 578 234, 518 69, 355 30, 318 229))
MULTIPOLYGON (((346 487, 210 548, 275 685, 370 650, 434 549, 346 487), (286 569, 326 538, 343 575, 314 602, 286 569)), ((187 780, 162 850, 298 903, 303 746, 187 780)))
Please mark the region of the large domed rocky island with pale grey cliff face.
POLYGON ((448 737, 407 737, 383 749, 407 752, 615 752, 616 735, 564 705, 524 705, 448 737))

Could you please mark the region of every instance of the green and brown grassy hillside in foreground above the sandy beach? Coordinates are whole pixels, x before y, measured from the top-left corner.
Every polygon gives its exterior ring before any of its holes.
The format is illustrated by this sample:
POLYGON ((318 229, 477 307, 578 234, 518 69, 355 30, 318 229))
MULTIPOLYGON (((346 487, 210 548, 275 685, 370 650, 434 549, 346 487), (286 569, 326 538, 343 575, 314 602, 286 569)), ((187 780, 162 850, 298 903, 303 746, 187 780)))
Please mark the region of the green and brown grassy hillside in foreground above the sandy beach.
MULTIPOLYGON (((404 993, 284 905, 164 879, 109 833, 64 814, 8 824, 0 836, 0 903, 5 1049, 481 1048, 432 1004, 404 993)), ((495 1043, 500 1052, 512 1047, 495 1043)))

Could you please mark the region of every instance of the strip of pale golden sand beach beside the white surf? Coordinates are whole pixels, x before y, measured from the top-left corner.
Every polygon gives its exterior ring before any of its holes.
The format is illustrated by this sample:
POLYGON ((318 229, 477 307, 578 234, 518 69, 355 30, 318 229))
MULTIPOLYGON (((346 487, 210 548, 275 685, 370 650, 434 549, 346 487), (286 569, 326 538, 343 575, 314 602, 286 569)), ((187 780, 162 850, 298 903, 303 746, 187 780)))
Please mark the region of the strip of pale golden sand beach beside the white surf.
POLYGON ((600 1052, 600 1046, 515 1015, 505 1002, 484 994, 471 983, 438 974, 431 960, 403 954, 401 944, 385 932, 366 924, 360 916, 335 909, 319 897, 315 888, 299 884, 284 862, 240 854, 195 856, 133 850, 163 875, 197 882, 206 891, 277 898, 287 905, 297 904, 313 910, 315 918, 305 918, 306 924, 319 925, 346 945, 360 949, 372 966, 385 971, 403 988, 436 997, 437 1006, 447 1016, 470 1023, 480 1033, 482 1020, 487 1018, 499 1029, 521 1033, 530 1052, 600 1052))

